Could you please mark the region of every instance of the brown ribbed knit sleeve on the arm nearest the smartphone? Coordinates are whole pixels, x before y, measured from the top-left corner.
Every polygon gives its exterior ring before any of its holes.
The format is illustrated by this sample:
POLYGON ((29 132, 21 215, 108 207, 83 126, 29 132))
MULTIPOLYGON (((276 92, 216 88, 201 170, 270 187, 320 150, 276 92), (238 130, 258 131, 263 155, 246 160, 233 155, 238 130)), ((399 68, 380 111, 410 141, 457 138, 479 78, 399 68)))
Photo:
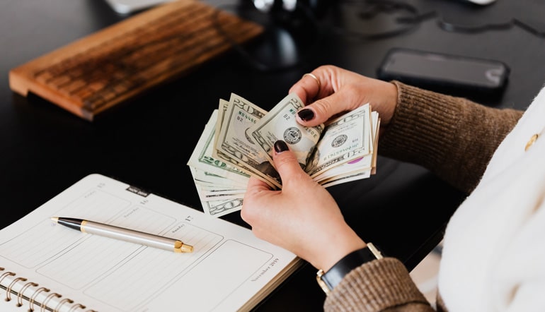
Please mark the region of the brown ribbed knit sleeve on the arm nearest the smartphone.
POLYGON ((379 155, 420 164, 459 190, 472 191, 523 112, 392 83, 398 103, 379 138, 379 155))

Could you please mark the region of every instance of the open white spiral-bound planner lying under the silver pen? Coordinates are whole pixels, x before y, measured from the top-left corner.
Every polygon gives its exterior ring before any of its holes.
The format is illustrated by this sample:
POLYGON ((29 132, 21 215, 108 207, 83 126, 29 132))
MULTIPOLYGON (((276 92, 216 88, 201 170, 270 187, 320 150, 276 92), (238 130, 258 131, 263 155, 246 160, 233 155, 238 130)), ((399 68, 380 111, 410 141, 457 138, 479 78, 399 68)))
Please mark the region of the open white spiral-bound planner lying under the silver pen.
POLYGON ((0 255, 0 311, 248 311, 302 264, 250 229, 101 174, 1 229, 0 255), (53 216, 169 236, 193 252, 85 234, 53 216))

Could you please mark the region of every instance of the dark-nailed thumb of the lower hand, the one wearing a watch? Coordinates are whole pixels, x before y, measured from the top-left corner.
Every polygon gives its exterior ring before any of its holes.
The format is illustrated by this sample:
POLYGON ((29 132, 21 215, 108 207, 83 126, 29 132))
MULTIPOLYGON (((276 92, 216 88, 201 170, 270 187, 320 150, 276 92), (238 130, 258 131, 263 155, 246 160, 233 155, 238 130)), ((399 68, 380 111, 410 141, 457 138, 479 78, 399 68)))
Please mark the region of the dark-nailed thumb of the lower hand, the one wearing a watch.
POLYGON ((274 145, 275 153, 272 161, 275 163, 276 170, 282 179, 282 188, 292 183, 300 181, 301 178, 309 179, 309 175, 304 172, 295 156, 294 152, 289 150, 283 140, 277 140, 274 145))

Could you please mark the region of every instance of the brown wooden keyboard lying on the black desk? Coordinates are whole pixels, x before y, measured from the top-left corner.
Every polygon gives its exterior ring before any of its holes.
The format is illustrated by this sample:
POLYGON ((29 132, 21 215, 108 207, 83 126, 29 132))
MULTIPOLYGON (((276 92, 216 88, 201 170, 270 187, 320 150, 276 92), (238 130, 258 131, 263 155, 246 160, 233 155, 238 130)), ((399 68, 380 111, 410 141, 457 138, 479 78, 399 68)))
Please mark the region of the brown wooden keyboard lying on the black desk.
POLYGON ((262 32, 258 24, 200 1, 173 1, 11 69, 9 85, 92 121, 226 52, 229 40, 241 44, 262 32))

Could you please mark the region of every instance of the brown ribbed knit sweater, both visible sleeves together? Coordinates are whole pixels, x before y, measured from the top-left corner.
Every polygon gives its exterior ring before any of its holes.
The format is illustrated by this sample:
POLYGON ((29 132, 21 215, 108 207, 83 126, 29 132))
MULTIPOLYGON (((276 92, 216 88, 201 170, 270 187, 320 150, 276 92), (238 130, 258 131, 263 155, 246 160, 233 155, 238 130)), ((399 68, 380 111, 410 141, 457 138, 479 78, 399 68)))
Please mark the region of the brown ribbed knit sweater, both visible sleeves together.
MULTIPOLYGON (((470 193, 522 111, 495 109, 397 81, 396 112, 379 139, 379 154, 420 164, 470 193)), ((365 237, 363 238, 365 239, 365 237)), ((325 311, 434 311, 400 260, 384 258, 352 270, 325 311)), ((437 311, 447 311, 440 298, 437 311)))

